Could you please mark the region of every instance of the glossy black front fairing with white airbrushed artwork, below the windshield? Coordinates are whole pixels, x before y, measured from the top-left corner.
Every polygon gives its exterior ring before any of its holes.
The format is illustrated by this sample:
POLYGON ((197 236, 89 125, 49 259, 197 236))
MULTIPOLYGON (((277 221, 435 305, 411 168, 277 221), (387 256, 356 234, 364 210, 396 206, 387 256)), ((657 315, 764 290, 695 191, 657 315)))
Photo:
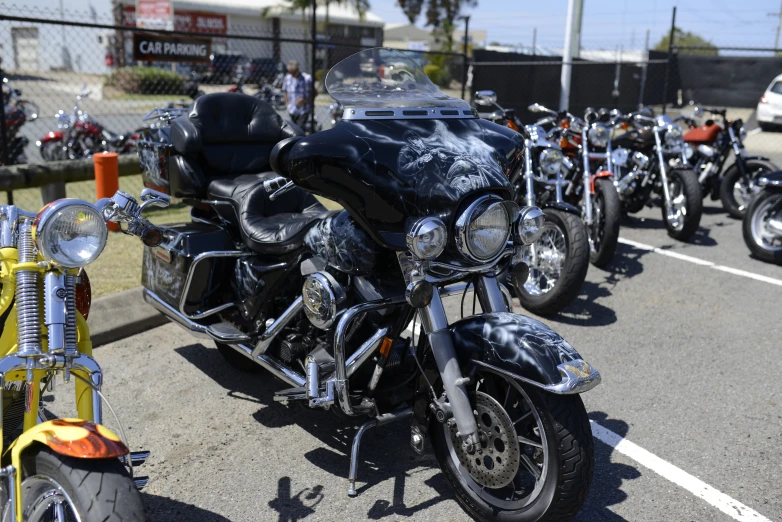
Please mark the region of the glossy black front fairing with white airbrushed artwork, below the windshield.
POLYGON ((449 224, 467 196, 512 199, 508 178, 522 150, 518 133, 485 120, 344 120, 296 143, 285 170, 399 250, 409 218, 439 215, 449 224))

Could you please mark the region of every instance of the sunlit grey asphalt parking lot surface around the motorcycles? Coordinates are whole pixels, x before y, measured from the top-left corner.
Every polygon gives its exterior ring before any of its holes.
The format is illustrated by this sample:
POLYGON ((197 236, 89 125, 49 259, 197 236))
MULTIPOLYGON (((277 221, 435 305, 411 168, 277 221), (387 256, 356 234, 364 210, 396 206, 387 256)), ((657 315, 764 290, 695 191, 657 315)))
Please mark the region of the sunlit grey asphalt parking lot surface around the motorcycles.
MULTIPOLYGON (((608 269, 591 267, 578 300, 544 319, 603 376, 583 396, 590 418, 641 448, 596 440, 577 520, 782 520, 782 268, 749 257, 740 222, 716 203, 687 244, 665 234, 659 209, 639 216, 608 269), (677 482, 659 459, 689 475, 677 482), (736 506, 718 509, 697 479, 736 506)), ((152 452, 140 472, 153 521, 468 519, 404 423, 366 435, 348 498, 357 423, 272 401, 285 386, 231 369, 172 324, 96 357, 131 446, 152 452)))

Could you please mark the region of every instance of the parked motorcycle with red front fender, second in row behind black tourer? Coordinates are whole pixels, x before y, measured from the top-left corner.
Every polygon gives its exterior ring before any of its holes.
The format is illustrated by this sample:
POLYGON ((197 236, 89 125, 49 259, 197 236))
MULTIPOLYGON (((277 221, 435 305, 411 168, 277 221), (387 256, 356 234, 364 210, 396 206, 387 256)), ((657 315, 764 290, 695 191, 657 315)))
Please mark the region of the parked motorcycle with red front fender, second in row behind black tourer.
MULTIPOLYGON (((572 158, 572 167, 565 169, 562 199, 581 209, 589 241, 589 261, 602 268, 614 257, 622 218, 619 195, 614 187, 614 151, 611 146, 611 116, 604 110, 598 114, 587 109, 584 119, 567 111, 554 111, 540 104, 530 105, 533 113, 549 114, 537 125, 554 124, 560 129, 560 146, 572 158)), ((618 149, 621 150, 621 149, 618 149)), ((620 152, 621 153, 621 152, 620 152)))

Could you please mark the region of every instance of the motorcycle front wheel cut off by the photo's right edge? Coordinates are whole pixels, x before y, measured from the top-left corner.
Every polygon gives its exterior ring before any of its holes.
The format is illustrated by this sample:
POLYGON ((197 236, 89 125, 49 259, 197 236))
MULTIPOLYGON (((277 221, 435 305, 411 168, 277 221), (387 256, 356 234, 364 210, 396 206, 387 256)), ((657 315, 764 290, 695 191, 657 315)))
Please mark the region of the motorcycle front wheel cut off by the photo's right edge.
POLYGON ((762 174, 757 185, 742 223, 744 243, 758 259, 782 265, 782 171, 762 174))

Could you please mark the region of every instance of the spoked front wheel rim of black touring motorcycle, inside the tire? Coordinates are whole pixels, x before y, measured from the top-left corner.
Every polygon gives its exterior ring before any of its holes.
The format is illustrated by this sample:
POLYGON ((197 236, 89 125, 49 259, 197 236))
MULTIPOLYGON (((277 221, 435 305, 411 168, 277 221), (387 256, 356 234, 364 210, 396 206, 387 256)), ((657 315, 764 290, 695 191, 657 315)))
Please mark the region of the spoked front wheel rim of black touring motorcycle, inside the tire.
MULTIPOLYGON (((478 384, 479 393, 488 395, 500 404, 504 410, 503 413, 508 417, 505 422, 513 426, 513 433, 518 445, 518 464, 515 473, 507 485, 502 487, 481 484, 471 476, 468 469, 462 464, 458 456, 460 452, 457 452, 454 440, 446 432, 448 452, 467 487, 481 499, 493 507, 508 510, 520 509, 534 502, 540 496, 543 485, 546 483, 549 453, 545 443, 545 426, 529 395, 518 382, 493 372, 487 372, 485 377, 489 377, 491 383, 487 383, 486 378, 482 379, 478 384), (493 386, 488 384, 493 384, 493 386), (496 397, 495 395, 501 396, 496 397)), ((475 413, 478 428, 481 431, 482 446, 484 440, 487 445, 494 444, 493 441, 498 437, 489 437, 489 434, 486 433, 486 430, 492 430, 494 424, 490 423, 487 426, 483 415, 478 415, 477 410, 475 413)), ((486 456, 485 454, 481 455, 481 458, 486 456)), ((497 454, 495 452, 490 456, 496 459, 497 454)))

